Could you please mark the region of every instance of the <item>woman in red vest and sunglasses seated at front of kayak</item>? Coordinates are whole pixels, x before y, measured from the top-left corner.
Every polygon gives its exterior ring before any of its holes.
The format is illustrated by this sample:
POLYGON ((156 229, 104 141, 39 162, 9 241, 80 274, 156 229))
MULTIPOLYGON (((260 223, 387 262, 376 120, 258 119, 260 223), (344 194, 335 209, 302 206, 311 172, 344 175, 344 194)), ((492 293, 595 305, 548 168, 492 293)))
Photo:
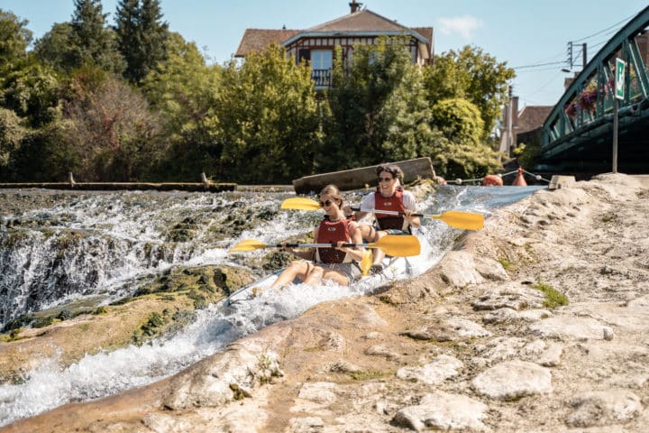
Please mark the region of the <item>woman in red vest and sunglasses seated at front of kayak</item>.
MULTIPOLYGON (((326 215, 319 226, 315 227, 315 244, 362 244, 358 224, 343 213, 343 198, 340 190, 334 185, 327 185, 320 192, 320 206, 326 215)), ((361 277, 359 262, 363 257, 362 246, 331 248, 308 248, 297 250, 285 248, 303 260, 295 260, 279 274, 271 287, 285 286, 296 278, 309 283, 331 280, 348 286, 361 277)))

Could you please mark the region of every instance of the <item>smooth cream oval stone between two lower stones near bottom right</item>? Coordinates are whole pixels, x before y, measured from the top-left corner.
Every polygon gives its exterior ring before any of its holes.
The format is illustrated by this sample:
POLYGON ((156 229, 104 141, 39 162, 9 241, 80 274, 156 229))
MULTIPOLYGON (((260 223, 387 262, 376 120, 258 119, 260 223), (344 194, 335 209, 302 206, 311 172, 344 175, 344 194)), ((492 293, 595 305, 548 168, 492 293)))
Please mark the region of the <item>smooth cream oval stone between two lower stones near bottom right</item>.
POLYGON ((552 373, 525 361, 506 361, 480 373, 471 382, 477 392, 496 400, 513 401, 552 392, 552 373))

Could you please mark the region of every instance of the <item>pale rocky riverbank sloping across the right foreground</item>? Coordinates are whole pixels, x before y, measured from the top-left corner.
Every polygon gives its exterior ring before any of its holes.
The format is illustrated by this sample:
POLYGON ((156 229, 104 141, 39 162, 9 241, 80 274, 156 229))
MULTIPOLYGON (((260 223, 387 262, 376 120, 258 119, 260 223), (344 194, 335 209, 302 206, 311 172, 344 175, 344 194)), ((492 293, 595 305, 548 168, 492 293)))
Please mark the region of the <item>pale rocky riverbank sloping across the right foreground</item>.
POLYGON ((646 431, 647 233, 625 175, 538 191, 416 280, 0 431, 646 431))

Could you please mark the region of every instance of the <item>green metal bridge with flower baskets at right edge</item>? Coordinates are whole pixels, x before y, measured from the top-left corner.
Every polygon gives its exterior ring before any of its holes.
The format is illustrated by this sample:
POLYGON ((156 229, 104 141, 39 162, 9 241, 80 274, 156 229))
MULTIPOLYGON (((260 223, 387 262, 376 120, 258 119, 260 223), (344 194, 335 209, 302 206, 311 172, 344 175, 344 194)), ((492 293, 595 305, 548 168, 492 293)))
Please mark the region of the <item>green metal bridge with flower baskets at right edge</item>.
POLYGON ((611 171, 616 58, 626 62, 624 99, 618 100, 617 170, 649 173, 649 6, 618 31, 554 106, 543 126, 535 170, 611 171), (646 33, 646 34, 645 34, 646 33))

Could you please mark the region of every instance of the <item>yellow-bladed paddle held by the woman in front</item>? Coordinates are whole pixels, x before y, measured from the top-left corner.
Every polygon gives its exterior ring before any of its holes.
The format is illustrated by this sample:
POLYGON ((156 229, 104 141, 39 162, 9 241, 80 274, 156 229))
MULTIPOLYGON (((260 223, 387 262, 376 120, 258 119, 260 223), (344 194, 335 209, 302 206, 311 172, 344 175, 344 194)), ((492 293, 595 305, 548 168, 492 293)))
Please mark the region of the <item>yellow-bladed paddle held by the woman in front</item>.
MULTIPOLYGON (((228 250, 228 253, 234 253, 238 251, 253 251, 259 250, 261 248, 333 248, 337 244, 264 244, 260 241, 254 239, 245 239, 239 244, 235 244, 232 248, 228 250)), ((418 255, 421 252, 421 245, 419 244, 419 239, 414 235, 386 235, 381 237, 377 242, 371 244, 343 244, 343 247, 356 247, 363 246, 365 248, 380 248, 386 254, 392 255, 394 257, 409 257, 412 255, 418 255)))

